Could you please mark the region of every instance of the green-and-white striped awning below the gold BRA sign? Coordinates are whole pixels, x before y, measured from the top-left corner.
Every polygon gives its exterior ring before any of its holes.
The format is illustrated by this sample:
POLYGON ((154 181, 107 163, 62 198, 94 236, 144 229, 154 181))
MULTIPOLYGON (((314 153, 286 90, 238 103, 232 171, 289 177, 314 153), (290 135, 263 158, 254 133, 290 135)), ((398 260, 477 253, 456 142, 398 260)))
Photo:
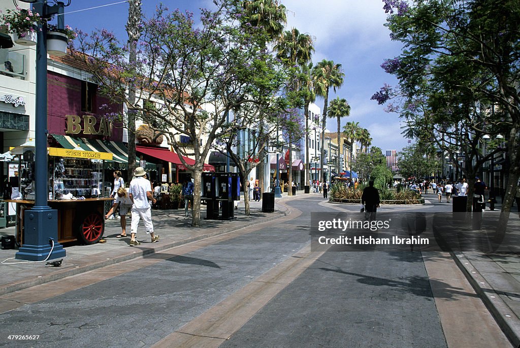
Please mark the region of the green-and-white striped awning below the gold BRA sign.
MULTIPOLYGON (((53 135, 53 138, 63 146, 64 149, 75 149, 77 147, 86 151, 109 152, 113 154, 112 160, 105 160, 108 169, 126 169, 128 164, 128 148, 121 141, 75 138, 70 136, 53 135)), ((139 165, 139 160, 136 161, 139 165)), ((146 163, 146 170, 156 170, 155 164, 146 163)))

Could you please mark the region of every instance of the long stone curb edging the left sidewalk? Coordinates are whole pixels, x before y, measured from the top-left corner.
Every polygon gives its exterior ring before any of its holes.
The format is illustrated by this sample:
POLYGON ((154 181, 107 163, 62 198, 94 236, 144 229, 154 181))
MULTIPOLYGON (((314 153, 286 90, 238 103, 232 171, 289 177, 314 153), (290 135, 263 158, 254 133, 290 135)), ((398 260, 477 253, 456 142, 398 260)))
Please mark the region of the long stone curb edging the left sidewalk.
MULTIPOLYGON (((278 203, 281 204, 283 209, 276 210, 275 216, 273 216, 274 215, 273 213, 269 213, 270 214, 269 216, 256 220, 255 224, 266 222, 266 221, 277 220, 279 218, 289 215, 289 213, 291 212, 291 208, 288 207, 287 205, 283 204, 283 200, 282 200, 282 202, 278 202, 278 203)), ((244 215, 244 217, 246 217, 246 216, 244 215)), ((30 288, 33 286, 53 282, 54 280, 58 280, 58 279, 70 277, 73 275, 78 275, 81 273, 93 271, 93 270, 99 269, 101 267, 109 266, 112 264, 136 259, 139 257, 153 255, 154 253, 157 253, 157 252, 160 252, 160 251, 163 251, 166 249, 170 249, 173 247, 178 247, 180 245, 197 242, 198 240, 202 240, 202 239, 206 239, 206 238, 210 238, 210 237, 214 237, 214 236, 218 236, 218 235, 222 235, 222 234, 226 234, 226 233, 230 233, 230 232, 235 232, 235 231, 241 230, 245 227, 248 227, 250 225, 251 225, 251 223, 248 221, 241 221, 239 224, 230 226, 229 228, 224 228, 224 229, 221 229, 218 231, 205 233, 205 234, 195 236, 192 238, 178 240, 177 242, 172 242, 172 243, 168 243, 168 244, 159 244, 159 245, 155 244, 153 248, 128 247, 128 251, 124 251, 124 255, 121 255, 121 251, 106 251, 103 253, 99 253, 98 255, 94 255, 92 257, 85 258, 87 261, 85 264, 76 265, 72 269, 59 270, 56 273, 44 275, 44 276, 41 276, 38 278, 32 278, 32 279, 26 278, 26 279, 17 280, 15 282, 11 282, 8 284, 0 285, 0 296, 6 295, 10 292, 15 292, 15 291, 27 289, 27 288, 30 288), (114 256, 113 255, 114 252, 119 253, 119 255, 114 256)), ((201 227, 194 227, 194 228, 201 228, 201 227)), ((88 247, 88 246, 86 246, 86 247, 88 247)))

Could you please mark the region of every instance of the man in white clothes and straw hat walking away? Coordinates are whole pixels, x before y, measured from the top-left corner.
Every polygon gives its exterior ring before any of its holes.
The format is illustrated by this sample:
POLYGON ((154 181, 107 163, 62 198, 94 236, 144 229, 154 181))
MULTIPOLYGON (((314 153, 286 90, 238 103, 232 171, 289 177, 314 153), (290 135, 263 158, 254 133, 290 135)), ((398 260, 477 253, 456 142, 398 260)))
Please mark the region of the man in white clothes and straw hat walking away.
POLYGON ((134 203, 132 206, 131 246, 140 244, 137 242, 135 235, 137 234, 137 226, 139 225, 141 218, 145 223, 146 233, 150 234, 150 237, 152 238, 152 243, 159 240, 159 235, 156 236, 153 234, 152 212, 150 203, 148 203, 148 200, 151 200, 152 203, 155 204, 155 198, 153 198, 150 181, 145 178, 145 175, 146 171, 144 168, 135 168, 135 178, 130 182, 130 188, 128 190, 130 198, 134 203))

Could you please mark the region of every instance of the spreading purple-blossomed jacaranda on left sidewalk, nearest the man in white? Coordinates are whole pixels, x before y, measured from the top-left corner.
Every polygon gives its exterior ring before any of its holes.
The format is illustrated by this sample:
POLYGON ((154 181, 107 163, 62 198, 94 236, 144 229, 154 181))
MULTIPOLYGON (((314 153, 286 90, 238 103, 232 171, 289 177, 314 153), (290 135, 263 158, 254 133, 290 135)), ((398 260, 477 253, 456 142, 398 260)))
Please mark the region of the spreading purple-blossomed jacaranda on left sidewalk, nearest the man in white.
POLYGON ((128 46, 107 31, 81 33, 78 40, 101 92, 139 113, 175 152, 194 159, 188 164, 180 157, 194 177, 192 226, 200 225, 201 173, 213 142, 242 127, 226 123, 226 115, 246 103, 269 104, 285 78, 261 28, 246 31, 240 24, 241 3, 219 0, 215 7, 202 9, 196 25, 191 12, 160 6, 142 21, 134 65, 128 46), (136 90, 134 104, 128 89, 136 90))

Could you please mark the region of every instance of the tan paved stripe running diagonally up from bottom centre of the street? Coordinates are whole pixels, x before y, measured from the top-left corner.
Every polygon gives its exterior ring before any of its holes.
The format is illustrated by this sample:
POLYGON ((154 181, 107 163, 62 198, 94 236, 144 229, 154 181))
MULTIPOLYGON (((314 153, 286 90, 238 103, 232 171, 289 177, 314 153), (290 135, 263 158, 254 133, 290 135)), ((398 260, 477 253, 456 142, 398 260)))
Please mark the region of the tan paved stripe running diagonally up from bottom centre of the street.
POLYGON ((323 253, 324 251, 311 252, 310 243, 307 244, 289 259, 262 274, 152 347, 218 347, 323 253))

